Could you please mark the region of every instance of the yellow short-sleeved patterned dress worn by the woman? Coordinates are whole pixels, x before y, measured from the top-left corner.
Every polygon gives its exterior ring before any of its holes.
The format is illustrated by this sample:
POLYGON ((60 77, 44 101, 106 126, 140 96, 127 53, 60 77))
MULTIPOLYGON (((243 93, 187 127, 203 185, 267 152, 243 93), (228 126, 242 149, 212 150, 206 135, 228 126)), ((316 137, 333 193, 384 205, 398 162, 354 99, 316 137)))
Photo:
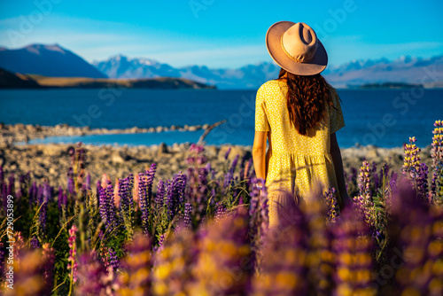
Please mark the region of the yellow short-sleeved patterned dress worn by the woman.
POLYGON ((337 178, 330 156, 330 135, 345 126, 337 91, 330 87, 335 108, 328 106, 326 115, 307 136, 299 134, 291 124, 286 105, 287 85, 284 81, 265 82, 257 91, 255 102, 255 130, 269 131, 272 155, 268 162, 269 226, 275 226, 278 206, 284 206, 282 191, 298 193, 306 202, 309 192, 318 182, 326 191, 337 190, 337 178))

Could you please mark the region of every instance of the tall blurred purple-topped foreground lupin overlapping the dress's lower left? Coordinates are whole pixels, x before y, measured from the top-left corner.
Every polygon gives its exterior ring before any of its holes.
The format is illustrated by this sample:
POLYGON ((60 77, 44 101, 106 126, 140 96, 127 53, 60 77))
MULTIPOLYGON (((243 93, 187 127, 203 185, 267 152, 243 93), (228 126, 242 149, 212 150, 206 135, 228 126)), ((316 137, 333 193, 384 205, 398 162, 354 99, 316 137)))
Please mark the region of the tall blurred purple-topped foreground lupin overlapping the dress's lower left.
POLYGON ((253 295, 307 295, 307 222, 291 193, 281 194, 284 206, 265 235, 253 295))

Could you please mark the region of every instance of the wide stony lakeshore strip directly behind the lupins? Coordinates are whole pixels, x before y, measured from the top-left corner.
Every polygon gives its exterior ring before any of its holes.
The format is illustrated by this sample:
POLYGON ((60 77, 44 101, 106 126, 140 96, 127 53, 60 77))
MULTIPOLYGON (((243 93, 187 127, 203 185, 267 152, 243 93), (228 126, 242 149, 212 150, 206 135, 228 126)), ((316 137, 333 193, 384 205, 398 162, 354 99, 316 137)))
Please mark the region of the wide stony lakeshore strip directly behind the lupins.
MULTIPOLYGON (((66 173, 70 166, 68 156, 69 144, 0 144, 0 165, 4 167, 6 176, 10 173, 19 176, 31 171, 34 179, 43 182, 48 178, 52 186, 61 185, 66 188, 66 173)), ((126 177, 129 173, 143 172, 152 163, 157 164, 156 181, 170 179, 179 171, 185 172, 185 163, 190 144, 165 144, 152 146, 112 146, 112 145, 83 145, 87 149, 86 170, 91 175, 92 187, 95 188, 97 179, 106 174, 112 180, 126 177)), ((422 160, 430 167, 431 146, 422 150, 422 160)), ((206 145, 206 156, 212 167, 218 172, 226 171, 231 160, 237 154, 252 157, 251 146, 241 145, 206 145), (224 156, 231 149, 228 160, 224 156)), ((377 148, 361 146, 342 150, 342 158, 346 172, 351 167, 357 169, 362 160, 376 162, 378 167, 388 163, 400 173, 403 164, 402 148, 377 148)), ((18 178, 16 178, 17 180, 18 178)))

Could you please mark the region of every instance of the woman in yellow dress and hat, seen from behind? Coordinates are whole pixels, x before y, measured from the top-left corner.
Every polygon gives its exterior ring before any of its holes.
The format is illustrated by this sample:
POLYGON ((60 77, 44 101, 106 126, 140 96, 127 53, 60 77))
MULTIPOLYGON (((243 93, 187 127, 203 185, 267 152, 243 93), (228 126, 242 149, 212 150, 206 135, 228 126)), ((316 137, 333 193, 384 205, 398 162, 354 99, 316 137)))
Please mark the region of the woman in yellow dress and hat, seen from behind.
POLYGON ((307 24, 290 21, 269 27, 266 44, 282 69, 257 91, 253 163, 266 180, 272 227, 287 203, 285 191, 303 203, 323 183, 336 189, 340 208, 351 199, 335 134, 345 121, 337 92, 320 74, 328 64, 323 44, 307 24))

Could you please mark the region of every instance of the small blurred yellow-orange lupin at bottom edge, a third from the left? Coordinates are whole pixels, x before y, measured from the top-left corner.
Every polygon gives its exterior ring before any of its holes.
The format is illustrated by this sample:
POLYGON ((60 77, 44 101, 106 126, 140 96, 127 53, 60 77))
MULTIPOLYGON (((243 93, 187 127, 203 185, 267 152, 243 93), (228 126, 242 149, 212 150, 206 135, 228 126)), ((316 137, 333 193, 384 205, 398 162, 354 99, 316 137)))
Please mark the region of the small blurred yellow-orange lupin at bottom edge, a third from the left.
POLYGON ((137 233, 126 246, 128 255, 121 261, 118 295, 152 295, 152 241, 137 233))

